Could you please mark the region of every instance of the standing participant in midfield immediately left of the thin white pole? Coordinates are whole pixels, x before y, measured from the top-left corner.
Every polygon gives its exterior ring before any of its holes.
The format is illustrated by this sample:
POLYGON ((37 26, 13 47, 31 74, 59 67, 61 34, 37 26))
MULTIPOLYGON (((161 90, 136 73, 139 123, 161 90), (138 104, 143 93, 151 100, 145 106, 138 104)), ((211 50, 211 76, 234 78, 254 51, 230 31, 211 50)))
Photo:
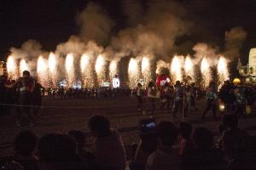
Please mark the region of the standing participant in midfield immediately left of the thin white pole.
POLYGON ((173 119, 176 119, 178 110, 181 112, 183 111, 183 87, 179 81, 174 85, 173 119))

